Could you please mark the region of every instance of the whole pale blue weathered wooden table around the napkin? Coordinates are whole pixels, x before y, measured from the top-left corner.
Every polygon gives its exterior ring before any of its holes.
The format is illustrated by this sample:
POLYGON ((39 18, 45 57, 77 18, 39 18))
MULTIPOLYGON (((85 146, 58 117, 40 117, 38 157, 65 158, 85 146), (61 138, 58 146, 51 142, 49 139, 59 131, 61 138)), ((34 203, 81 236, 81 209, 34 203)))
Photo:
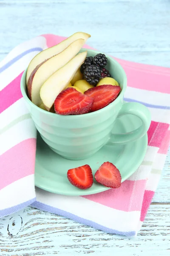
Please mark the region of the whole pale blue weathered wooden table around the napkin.
MULTIPOLYGON (((53 33, 91 34, 118 58, 170 67, 169 0, 0 0, 0 60, 17 44, 53 33)), ((0 219, 0 256, 170 255, 170 153, 141 231, 130 239, 27 207, 0 219)))

